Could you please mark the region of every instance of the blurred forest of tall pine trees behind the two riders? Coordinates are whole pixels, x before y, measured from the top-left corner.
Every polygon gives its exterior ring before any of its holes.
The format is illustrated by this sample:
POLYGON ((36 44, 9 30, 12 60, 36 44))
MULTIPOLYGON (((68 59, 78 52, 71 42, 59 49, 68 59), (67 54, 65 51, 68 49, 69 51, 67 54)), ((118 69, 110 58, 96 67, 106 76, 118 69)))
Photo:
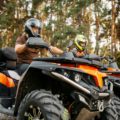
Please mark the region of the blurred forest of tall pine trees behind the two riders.
POLYGON ((42 21, 42 38, 66 50, 77 34, 90 53, 120 64, 120 0, 0 0, 0 48, 14 47, 28 18, 42 21))

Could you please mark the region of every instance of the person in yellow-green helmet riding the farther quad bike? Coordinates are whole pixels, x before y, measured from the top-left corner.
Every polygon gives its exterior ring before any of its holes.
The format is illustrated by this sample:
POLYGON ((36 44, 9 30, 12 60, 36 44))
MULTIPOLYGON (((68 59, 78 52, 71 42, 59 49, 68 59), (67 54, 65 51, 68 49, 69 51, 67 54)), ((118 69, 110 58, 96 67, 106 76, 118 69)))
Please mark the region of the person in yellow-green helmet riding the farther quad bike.
POLYGON ((68 49, 73 48, 71 51, 75 57, 83 57, 86 54, 87 39, 84 35, 76 35, 74 41, 68 46, 68 49))

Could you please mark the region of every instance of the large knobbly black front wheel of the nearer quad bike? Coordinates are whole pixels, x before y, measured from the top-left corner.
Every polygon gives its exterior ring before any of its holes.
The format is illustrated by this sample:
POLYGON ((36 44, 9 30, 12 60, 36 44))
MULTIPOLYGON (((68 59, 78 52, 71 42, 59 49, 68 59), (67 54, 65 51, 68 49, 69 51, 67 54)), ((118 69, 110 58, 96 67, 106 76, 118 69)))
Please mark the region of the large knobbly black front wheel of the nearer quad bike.
POLYGON ((69 120, 69 114, 51 92, 34 90, 21 102, 17 120, 69 120))

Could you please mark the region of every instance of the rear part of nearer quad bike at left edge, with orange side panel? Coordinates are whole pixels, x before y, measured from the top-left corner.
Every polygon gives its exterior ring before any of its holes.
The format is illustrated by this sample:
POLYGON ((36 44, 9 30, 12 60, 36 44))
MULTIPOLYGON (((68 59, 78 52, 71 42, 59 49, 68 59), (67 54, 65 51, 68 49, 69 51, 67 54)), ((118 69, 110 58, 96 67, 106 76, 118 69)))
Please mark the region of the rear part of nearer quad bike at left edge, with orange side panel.
POLYGON ((20 79, 15 71, 16 54, 13 48, 0 49, 0 113, 12 115, 17 84, 20 79))

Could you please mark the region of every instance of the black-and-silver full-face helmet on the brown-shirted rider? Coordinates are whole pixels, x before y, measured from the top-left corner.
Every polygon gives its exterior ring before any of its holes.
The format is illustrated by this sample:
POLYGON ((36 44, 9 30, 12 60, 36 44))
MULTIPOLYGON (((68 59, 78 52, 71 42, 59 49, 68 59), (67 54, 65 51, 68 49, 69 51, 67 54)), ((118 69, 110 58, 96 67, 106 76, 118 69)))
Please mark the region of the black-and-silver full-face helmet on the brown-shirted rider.
POLYGON ((29 37, 39 37, 40 30, 42 27, 42 23, 40 20, 35 18, 30 18, 25 22, 25 32, 28 34, 29 37), (32 28, 38 28, 38 32, 33 32, 32 28))

